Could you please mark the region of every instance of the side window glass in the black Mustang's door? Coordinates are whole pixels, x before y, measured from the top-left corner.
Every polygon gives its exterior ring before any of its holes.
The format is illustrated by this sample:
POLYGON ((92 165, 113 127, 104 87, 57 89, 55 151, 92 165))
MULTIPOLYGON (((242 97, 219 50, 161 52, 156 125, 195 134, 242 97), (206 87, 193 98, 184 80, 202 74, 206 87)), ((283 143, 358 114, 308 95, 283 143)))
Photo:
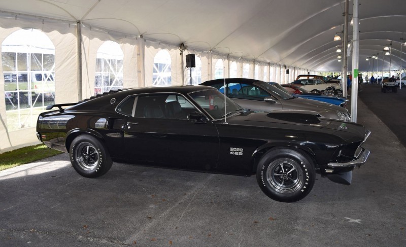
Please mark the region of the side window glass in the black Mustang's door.
POLYGON ((190 112, 197 111, 178 94, 153 94, 138 96, 134 117, 187 120, 190 112))

